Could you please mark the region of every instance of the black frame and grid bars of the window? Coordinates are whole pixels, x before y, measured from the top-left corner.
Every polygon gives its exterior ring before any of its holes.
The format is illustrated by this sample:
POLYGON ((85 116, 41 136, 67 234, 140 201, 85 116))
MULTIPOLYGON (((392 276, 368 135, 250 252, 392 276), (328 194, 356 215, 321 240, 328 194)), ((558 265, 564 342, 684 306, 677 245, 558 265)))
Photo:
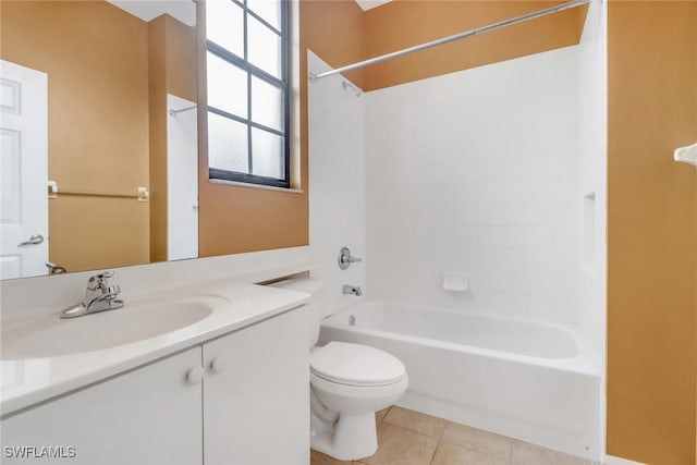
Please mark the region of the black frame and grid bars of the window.
MULTIPOLYGON (((283 152, 282 152, 282 163, 284 171, 284 179, 277 179, 271 176, 262 176, 258 174, 244 173, 241 171, 231 171, 223 170, 219 168, 211 168, 208 166, 208 179, 209 181, 229 181, 234 183, 245 183, 245 184, 256 184, 261 186, 271 186, 271 187, 281 187, 281 188, 291 188, 291 70, 290 70, 290 60, 291 60, 291 40, 290 40, 290 23, 291 23, 291 13, 289 1, 279 0, 280 3, 280 28, 278 30, 273 25, 267 22, 264 17, 257 14, 254 10, 252 10, 247 5, 247 0, 229 0, 230 2, 239 5, 243 10, 243 24, 244 24, 244 54, 247 56, 247 59, 237 57, 232 51, 225 49, 224 47, 219 46, 218 44, 208 39, 206 35, 206 54, 208 52, 215 54, 216 57, 224 60, 231 65, 237 66, 247 73, 247 118, 242 118, 232 113, 229 113, 224 110, 221 110, 216 107, 211 107, 207 101, 206 105, 206 119, 208 120, 209 113, 215 113, 219 117, 236 121, 239 123, 245 124, 247 130, 247 159, 249 171, 254 169, 254 151, 252 147, 252 130, 259 129, 267 133, 278 135, 283 138, 283 152), (270 28, 274 34, 280 33, 281 38, 281 77, 278 78, 267 71, 261 70, 260 68, 254 65, 248 61, 248 27, 247 27, 247 17, 252 15, 255 20, 259 21, 264 26, 270 28), (271 84, 282 91, 282 105, 283 105, 283 114, 282 114, 282 123, 283 129, 281 131, 276 130, 273 127, 266 126, 264 124, 256 123, 252 120, 252 79, 253 77, 257 77, 267 84, 271 84)), ((206 61, 208 63, 208 61, 206 61)), ((207 65, 206 65, 207 68, 207 65)), ((208 73, 206 73, 208 75, 208 73)), ((208 87, 208 78, 206 79, 206 87, 208 87)), ((208 135, 207 135, 208 137, 208 135)))

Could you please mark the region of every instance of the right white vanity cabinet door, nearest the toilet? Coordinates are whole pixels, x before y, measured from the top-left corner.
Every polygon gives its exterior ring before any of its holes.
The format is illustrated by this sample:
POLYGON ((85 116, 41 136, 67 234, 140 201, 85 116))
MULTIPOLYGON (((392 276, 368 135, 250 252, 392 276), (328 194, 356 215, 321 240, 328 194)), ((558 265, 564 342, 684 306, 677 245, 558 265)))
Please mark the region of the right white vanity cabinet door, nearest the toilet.
POLYGON ((309 313, 204 345, 206 465, 309 463, 309 313))

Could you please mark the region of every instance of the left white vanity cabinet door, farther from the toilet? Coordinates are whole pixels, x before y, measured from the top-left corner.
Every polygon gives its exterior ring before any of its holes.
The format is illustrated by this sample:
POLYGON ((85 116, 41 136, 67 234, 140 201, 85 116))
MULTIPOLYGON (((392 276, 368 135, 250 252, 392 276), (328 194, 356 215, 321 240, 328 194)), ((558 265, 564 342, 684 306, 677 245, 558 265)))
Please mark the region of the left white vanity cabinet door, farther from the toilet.
POLYGON ((191 348, 2 420, 2 463, 203 463, 203 384, 187 380, 200 357, 191 348), (74 457, 12 458, 21 446, 74 457))

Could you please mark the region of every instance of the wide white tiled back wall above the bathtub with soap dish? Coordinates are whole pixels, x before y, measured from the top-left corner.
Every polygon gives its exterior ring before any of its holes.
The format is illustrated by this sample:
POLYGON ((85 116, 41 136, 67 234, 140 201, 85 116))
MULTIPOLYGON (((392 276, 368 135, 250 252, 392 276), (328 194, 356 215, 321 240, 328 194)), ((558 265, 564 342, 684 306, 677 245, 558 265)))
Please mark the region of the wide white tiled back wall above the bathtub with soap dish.
POLYGON ((370 298, 578 320, 578 53, 365 96, 370 298))

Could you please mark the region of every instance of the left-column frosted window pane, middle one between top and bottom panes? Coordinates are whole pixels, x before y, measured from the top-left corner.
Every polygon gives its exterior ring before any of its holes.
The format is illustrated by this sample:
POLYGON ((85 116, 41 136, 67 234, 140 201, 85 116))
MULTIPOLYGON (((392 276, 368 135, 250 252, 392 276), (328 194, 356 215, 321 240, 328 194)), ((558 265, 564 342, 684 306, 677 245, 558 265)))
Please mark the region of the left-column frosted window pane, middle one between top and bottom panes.
POLYGON ((208 105, 247 118, 247 72, 208 52, 208 105))

